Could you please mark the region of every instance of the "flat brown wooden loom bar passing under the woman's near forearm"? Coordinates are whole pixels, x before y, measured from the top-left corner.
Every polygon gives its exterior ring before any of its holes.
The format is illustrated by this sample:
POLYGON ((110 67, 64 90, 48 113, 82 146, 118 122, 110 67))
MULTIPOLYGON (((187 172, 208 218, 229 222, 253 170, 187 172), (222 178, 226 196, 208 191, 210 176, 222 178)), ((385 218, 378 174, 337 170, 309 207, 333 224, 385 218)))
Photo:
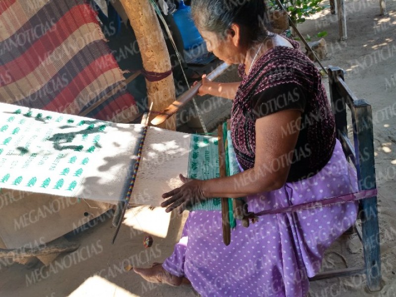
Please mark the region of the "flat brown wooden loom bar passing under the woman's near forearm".
MULTIPOLYGON (((223 125, 219 125, 217 129, 218 133, 218 148, 219 148, 219 170, 220 177, 226 177, 226 162, 225 162, 225 150, 223 141, 223 125)), ((221 198, 221 217, 223 222, 223 242, 228 246, 231 242, 231 227, 229 217, 228 198, 221 198)))

